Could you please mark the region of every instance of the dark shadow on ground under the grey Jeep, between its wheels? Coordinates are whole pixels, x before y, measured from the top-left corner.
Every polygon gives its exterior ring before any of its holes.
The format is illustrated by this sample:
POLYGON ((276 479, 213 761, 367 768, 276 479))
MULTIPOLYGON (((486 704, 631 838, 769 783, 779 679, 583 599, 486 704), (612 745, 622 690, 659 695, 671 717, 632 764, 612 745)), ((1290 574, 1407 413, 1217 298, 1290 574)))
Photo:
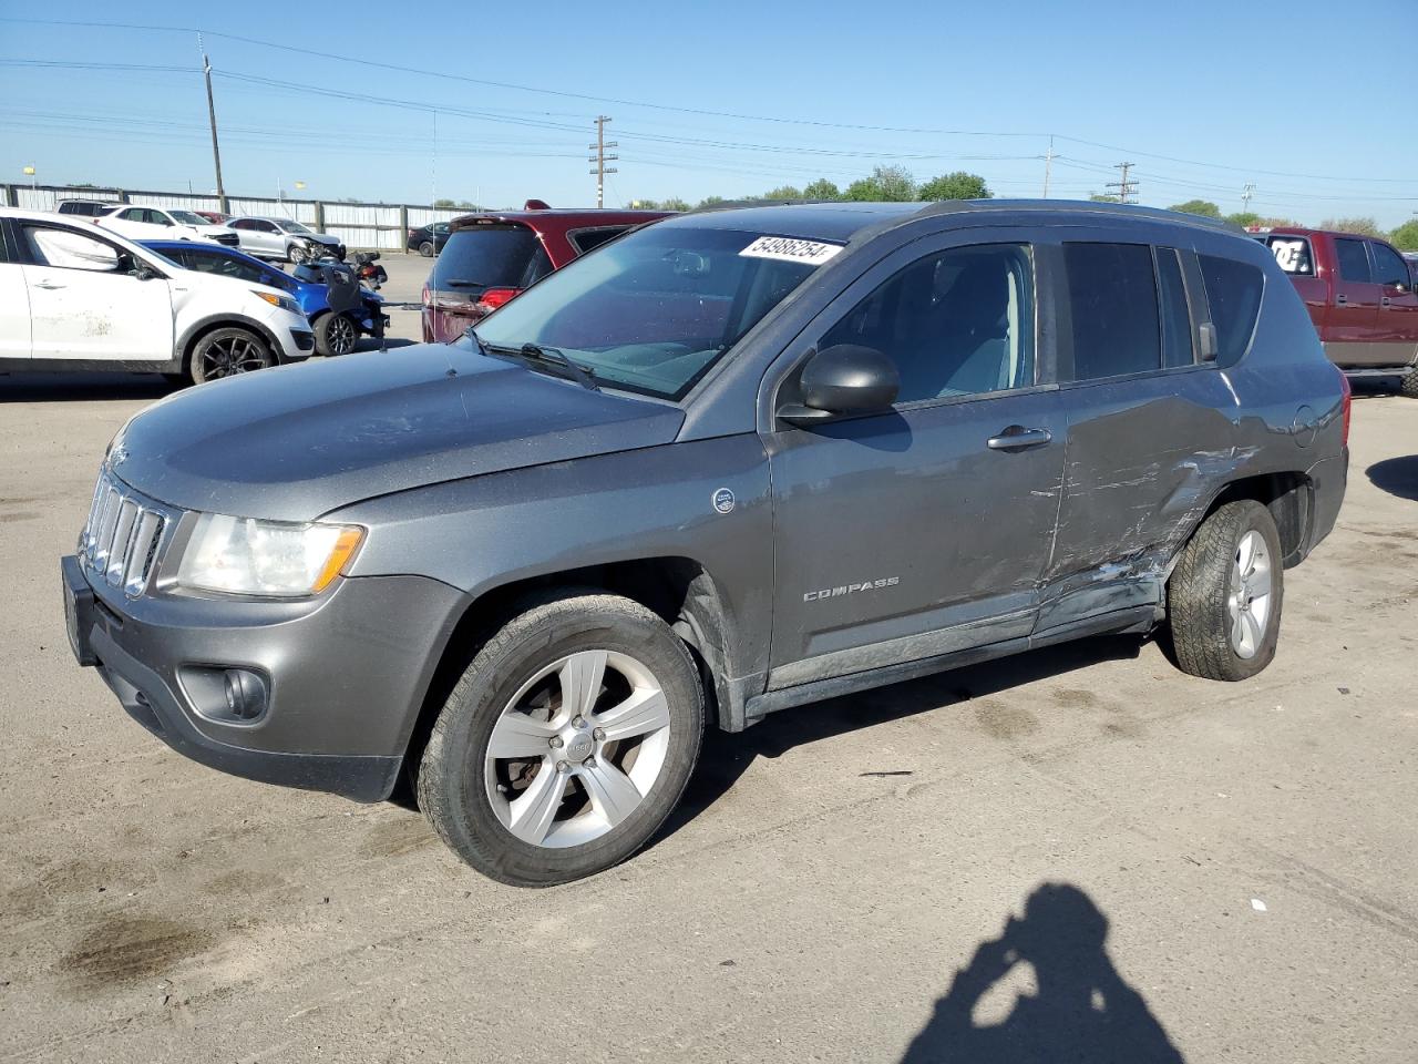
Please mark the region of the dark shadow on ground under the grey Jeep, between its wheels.
MULTIPOLYGON (((1098 636, 786 709, 732 735, 709 728, 695 775, 657 840, 668 838, 722 799, 754 758, 780 758, 797 746, 845 732, 984 698, 1103 661, 1132 660, 1141 645, 1139 636, 1098 636)), ((891 772, 892 766, 885 765, 882 770, 891 772)))

